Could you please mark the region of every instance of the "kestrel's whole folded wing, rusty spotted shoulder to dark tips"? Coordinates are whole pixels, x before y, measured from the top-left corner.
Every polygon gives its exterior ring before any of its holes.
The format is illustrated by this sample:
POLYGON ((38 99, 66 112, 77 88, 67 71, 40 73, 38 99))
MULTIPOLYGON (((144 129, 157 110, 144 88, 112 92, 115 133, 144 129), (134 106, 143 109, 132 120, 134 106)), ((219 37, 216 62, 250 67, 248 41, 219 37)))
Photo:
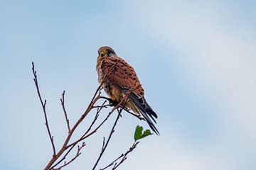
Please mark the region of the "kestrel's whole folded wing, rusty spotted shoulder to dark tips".
MULTIPOLYGON (((156 134, 159 134, 159 131, 151 121, 151 119, 154 120, 154 118, 157 118, 157 115, 149 104, 146 103, 144 89, 134 69, 127 62, 122 60, 122 58, 115 56, 106 57, 105 60, 103 60, 102 72, 106 74, 108 81, 117 86, 122 93, 127 94, 129 91, 132 91, 132 93, 129 94, 129 98, 134 105, 137 106, 139 112, 142 113, 150 128, 156 132, 156 134)), ((154 122, 156 123, 156 120, 154 120, 154 122)))

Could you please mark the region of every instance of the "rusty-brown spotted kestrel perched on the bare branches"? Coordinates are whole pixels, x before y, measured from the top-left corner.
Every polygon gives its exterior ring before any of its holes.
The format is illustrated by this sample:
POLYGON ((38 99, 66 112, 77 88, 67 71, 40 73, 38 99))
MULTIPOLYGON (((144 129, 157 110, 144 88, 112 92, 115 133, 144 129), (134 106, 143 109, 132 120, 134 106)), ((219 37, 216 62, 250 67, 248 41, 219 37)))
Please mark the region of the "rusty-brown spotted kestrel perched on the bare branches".
POLYGON ((146 120, 151 130, 159 135, 154 125, 157 115, 146 102, 144 89, 134 68, 118 57, 111 47, 103 46, 98 50, 96 70, 98 81, 111 101, 119 103, 127 96, 125 107, 132 110, 139 118, 146 120))

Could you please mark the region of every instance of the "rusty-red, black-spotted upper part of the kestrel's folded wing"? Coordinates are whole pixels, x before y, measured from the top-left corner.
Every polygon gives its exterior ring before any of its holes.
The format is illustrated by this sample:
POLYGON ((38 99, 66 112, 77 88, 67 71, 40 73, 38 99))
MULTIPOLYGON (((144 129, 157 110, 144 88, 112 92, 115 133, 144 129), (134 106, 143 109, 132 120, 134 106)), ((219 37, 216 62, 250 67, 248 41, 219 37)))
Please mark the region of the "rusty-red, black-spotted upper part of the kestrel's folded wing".
POLYGON ((132 91, 137 97, 144 96, 139 79, 134 69, 120 57, 107 57, 102 62, 103 74, 107 74, 108 81, 127 94, 132 91))

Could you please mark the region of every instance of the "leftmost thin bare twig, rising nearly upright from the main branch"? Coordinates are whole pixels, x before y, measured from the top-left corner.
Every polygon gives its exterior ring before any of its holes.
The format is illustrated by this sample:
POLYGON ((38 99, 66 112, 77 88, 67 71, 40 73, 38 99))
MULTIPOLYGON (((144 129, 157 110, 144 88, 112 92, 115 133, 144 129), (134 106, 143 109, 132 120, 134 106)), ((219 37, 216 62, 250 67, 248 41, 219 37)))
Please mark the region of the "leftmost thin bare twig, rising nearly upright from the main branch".
POLYGON ((46 100, 43 103, 43 100, 42 100, 42 97, 41 97, 41 94, 40 94, 40 90, 39 90, 39 86, 38 86, 38 79, 37 79, 37 75, 36 75, 36 70, 35 70, 33 62, 32 62, 32 71, 33 71, 33 77, 34 77, 33 81, 35 82, 36 91, 37 91, 38 97, 40 99, 41 106, 43 108, 43 114, 44 114, 44 117, 45 117, 45 120, 46 120, 46 128, 47 128, 47 131, 48 131, 48 135, 50 137, 50 143, 53 147, 53 158, 54 158, 56 156, 56 151, 55 151, 55 145, 54 145, 54 142, 53 142, 53 136, 50 133, 50 128, 49 128, 49 125, 48 125, 48 118, 47 118, 47 115, 46 115, 46 100))

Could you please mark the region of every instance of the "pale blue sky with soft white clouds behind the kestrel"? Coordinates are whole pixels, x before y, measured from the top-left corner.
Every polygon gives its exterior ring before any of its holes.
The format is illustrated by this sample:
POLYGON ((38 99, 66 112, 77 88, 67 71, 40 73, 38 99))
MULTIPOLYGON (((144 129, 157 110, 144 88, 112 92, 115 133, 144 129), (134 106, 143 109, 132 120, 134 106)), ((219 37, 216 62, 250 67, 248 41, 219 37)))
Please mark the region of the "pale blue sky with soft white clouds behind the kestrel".
MULTIPOLYGON (((98 86, 97 49, 109 45, 136 69, 161 133, 120 169, 256 169, 255 8, 255 1, 0 1, 1 168, 43 169, 52 154, 31 62, 59 148, 61 93, 75 123, 98 86)), ((92 167, 112 121, 66 169, 92 167)), ((147 127, 123 115, 100 167, 132 145, 136 125, 147 127)))

